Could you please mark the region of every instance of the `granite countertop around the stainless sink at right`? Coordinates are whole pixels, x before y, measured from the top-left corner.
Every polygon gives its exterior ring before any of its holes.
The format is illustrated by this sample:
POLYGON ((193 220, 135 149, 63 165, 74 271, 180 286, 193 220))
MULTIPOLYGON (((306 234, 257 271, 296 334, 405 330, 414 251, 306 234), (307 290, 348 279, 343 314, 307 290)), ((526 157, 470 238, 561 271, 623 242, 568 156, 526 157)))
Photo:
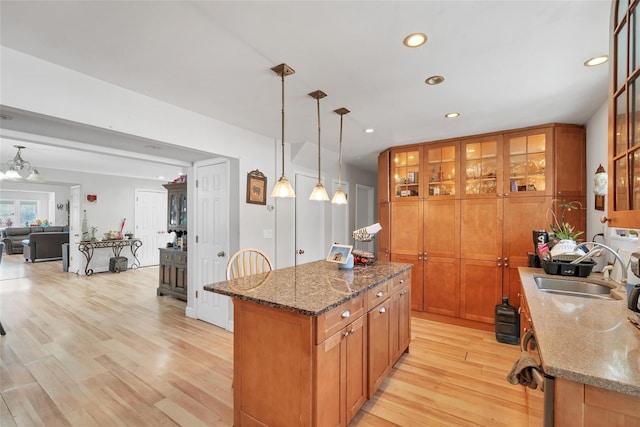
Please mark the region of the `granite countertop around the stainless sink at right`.
POLYGON ((640 397, 640 330, 627 320, 633 313, 626 293, 612 291, 619 300, 545 293, 534 281, 534 276, 549 276, 544 270, 520 267, 519 272, 544 371, 640 397))

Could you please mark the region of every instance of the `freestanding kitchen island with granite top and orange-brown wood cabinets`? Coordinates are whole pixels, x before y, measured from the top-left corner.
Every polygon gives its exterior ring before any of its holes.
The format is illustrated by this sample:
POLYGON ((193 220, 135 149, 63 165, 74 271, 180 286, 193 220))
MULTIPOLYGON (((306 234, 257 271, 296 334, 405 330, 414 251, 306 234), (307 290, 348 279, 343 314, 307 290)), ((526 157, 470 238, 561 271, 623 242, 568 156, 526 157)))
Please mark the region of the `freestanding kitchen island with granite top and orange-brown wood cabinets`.
POLYGON ((234 425, 346 426, 409 349, 410 269, 316 261, 206 285, 233 297, 234 425))

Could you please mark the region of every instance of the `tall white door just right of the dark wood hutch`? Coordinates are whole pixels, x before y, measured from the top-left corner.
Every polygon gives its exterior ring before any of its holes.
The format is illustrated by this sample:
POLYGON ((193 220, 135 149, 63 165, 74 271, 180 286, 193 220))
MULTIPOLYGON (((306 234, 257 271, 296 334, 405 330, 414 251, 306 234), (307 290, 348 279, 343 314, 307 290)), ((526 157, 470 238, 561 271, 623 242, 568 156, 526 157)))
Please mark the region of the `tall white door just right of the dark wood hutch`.
POLYGON ((233 323, 229 317, 231 299, 203 289, 206 284, 225 280, 229 258, 229 164, 224 161, 197 166, 196 179, 198 318, 232 330, 233 323))

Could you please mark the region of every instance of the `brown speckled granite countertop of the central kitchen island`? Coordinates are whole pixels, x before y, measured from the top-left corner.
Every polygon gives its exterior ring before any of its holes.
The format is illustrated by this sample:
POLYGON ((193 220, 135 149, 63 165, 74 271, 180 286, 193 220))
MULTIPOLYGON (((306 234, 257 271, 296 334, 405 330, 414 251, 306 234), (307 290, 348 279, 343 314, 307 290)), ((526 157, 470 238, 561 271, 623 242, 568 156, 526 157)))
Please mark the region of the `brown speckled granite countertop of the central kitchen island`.
POLYGON ((412 264, 378 261, 346 270, 323 260, 205 285, 204 290, 318 316, 411 267, 412 264))

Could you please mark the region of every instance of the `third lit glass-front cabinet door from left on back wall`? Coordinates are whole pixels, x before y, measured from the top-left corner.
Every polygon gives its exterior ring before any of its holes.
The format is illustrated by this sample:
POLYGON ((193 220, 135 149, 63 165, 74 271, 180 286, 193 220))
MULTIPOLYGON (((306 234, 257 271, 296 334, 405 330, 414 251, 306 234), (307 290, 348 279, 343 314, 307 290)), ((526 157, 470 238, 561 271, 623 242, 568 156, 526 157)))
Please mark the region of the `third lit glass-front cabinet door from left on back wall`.
POLYGON ((502 193, 502 136, 461 142, 462 198, 495 198, 502 193))

